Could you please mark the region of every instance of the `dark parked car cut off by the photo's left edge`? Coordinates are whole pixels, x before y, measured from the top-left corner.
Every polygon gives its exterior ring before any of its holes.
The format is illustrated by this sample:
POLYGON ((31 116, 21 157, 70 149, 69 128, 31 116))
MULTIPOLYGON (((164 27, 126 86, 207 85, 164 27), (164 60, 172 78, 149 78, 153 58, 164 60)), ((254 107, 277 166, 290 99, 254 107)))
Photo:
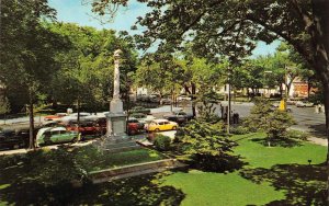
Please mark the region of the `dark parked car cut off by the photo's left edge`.
POLYGON ((26 147, 29 136, 21 135, 12 129, 0 130, 0 148, 19 149, 26 147))

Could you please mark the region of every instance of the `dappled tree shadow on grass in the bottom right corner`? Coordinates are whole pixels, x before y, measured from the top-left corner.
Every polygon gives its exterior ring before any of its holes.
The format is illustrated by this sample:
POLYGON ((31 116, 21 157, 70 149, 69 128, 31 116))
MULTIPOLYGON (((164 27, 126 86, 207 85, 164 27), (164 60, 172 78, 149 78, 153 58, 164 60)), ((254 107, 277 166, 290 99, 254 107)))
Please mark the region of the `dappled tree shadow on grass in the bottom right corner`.
POLYGON ((266 205, 326 205, 326 165, 277 164, 271 169, 243 169, 241 176, 254 183, 269 182, 285 191, 285 199, 266 205))

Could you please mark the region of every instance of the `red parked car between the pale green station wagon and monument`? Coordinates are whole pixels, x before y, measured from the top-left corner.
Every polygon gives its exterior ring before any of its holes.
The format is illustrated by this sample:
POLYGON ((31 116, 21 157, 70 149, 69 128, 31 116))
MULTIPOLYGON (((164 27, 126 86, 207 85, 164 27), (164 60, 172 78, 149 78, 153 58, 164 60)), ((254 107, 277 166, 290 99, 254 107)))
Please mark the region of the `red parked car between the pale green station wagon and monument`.
POLYGON ((81 134, 81 139, 88 139, 90 137, 101 136, 101 127, 95 122, 87 121, 81 122, 78 126, 77 122, 70 122, 66 126, 67 130, 73 130, 81 134))

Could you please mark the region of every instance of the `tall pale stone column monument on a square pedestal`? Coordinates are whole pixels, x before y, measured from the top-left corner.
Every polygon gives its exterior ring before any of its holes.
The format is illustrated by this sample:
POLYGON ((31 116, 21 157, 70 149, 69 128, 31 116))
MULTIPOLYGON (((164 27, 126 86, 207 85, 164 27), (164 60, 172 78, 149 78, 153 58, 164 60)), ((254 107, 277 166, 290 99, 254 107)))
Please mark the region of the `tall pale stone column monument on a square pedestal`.
POLYGON ((110 139, 118 139, 126 136, 126 114, 123 112, 123 102, 120 98, 120 64, 122 50, 114 52, 114 88, 113 99, 110 103, 110 113, 107 118, 106 137, 110 139))

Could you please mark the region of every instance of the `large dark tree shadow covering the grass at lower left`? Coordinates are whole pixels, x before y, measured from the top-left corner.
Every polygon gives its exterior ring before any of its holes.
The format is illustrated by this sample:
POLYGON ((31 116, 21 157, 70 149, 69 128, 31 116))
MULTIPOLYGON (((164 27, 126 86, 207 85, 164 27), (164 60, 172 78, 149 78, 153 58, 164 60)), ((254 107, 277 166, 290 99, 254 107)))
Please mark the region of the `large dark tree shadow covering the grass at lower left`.
MULTIPOLYGON (((37 164, 45 162, 23 154, 0 157, 0 205, 180 205, 184 198, 180 190, 161 185, 162 173, 73 187, 69 179, 58 182, 52 174, 42 174, 47 171, 35 169, 37 164)), ((68 165, 57 167, 65 175, 68 165)))

